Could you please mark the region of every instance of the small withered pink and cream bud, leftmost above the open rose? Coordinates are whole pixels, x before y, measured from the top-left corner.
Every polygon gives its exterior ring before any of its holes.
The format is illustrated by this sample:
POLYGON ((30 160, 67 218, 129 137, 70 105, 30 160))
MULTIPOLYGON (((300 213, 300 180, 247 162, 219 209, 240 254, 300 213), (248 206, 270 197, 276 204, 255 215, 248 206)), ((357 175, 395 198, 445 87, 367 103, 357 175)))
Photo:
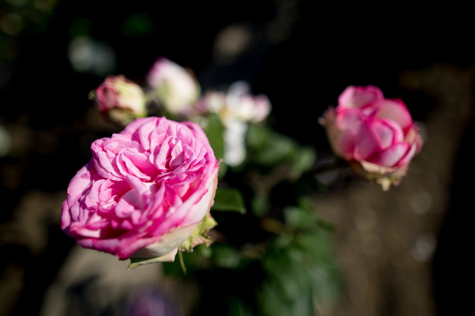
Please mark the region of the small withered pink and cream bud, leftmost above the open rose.
POLYGON ((96 88, 96 105, 114 123, 127 125, 147 114, 142 88, 124 76, 109 76, 96 88))

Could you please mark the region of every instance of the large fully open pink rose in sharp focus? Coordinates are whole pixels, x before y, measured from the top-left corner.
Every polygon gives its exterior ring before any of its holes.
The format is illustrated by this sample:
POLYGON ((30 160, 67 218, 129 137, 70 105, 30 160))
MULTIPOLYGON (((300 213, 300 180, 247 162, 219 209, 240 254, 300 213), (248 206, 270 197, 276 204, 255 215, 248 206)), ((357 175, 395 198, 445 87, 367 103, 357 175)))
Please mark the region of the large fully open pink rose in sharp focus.
POLYGON ((172 261, 214 200, 219 164, 201 127, 138 118, 91 151, 69 183, 61 228, 120 259, 172 261))

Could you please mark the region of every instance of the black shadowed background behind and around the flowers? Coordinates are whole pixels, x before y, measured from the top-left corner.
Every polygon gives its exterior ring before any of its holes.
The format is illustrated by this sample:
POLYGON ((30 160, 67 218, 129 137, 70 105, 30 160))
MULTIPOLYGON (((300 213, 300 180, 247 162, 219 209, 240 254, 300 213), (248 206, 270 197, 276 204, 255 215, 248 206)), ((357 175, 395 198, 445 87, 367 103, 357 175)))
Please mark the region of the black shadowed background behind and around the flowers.
MULTIPOLYGON (((191 68, 203 89, 247 80, 254 94, 269 96, 272 127, 315 146, 324 156, 328 144, 317 118, 336 104, 348 85, 378 86, 387 97, 402 98, 414 120, 424 122, 438 100, 404 87, 401 74, 438 63, 474 67, 470 12, 463 7, 422 10, 409 5, 330 6, 292 0, 127 5, 2 0, 0 21, 12 13, 21 17, 20 31, 0 30, 0 125, 13 135, 11 151, 0 157, 0 282, 7 284, 11 265, 24 273, 23 288, 11 300, 11 315, 37 314, 73 240, 60 230, 58 221, 46 217, 47 242, 32 252, 28 242, 8 237, 8 223, 16 221, 26 192, 65 193, 71 177, 90 158, 90 143, 113 130, 88 121, 94 109, 87 95, 107 74, 71 66, 68 45, 76 36, 87 35, 112 48, 111 74, 137 82, 158 56, 191 68), (245 27, 251 37, 246 49, 223 60, 216 53, 215 39, 229 25, 245 27)), ((470 290, 461 286, 473 284, 467 282, 470 270, 465 263, 465 247, 472 248, 467 244, 469 218, 459 211, 473 208, 469 201, 473 184, 465 184, 473 178, 467 149, 473 123, 469 126, 454 162, 453 203, 435 255, 434 298, 440 315, 450 315, 446 312, 454 306, 469 306, 463 299, 470 290), (447 269, 453 271, 450 276, 444 273, 447 269)))

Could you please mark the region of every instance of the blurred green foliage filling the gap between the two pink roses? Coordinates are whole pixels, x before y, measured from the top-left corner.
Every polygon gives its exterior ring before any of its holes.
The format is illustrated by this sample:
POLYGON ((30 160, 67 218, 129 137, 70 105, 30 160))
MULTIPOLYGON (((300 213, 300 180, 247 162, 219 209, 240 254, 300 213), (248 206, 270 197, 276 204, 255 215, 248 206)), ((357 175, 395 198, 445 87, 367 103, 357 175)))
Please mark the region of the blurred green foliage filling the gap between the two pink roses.
MULTIPOLYGON (((222 129, 208 127, 220 152, 222 129)), ((334 226, 309 195, 316 151, 267 125, 251 124, 246 142, 246 160, 227 167, 218 184, 211 208, 215 242, 184 253, 186 278, 201 288, 195 314, 328 315, 342 284, 334 226)), ((183 277, 178 263, 163 267, 183 277)))

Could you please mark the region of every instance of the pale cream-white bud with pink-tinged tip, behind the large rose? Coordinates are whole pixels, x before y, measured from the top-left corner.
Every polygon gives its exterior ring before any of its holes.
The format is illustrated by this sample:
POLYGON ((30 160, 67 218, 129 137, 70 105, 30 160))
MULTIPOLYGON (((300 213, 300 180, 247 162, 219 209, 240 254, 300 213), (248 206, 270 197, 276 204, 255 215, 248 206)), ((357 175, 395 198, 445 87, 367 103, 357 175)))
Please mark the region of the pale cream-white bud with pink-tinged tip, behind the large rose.
POLYGON ((201 94, 193 72, 165 57, 156 60, 146 80, 165 110, 172 114, 190 111, 201 94))

